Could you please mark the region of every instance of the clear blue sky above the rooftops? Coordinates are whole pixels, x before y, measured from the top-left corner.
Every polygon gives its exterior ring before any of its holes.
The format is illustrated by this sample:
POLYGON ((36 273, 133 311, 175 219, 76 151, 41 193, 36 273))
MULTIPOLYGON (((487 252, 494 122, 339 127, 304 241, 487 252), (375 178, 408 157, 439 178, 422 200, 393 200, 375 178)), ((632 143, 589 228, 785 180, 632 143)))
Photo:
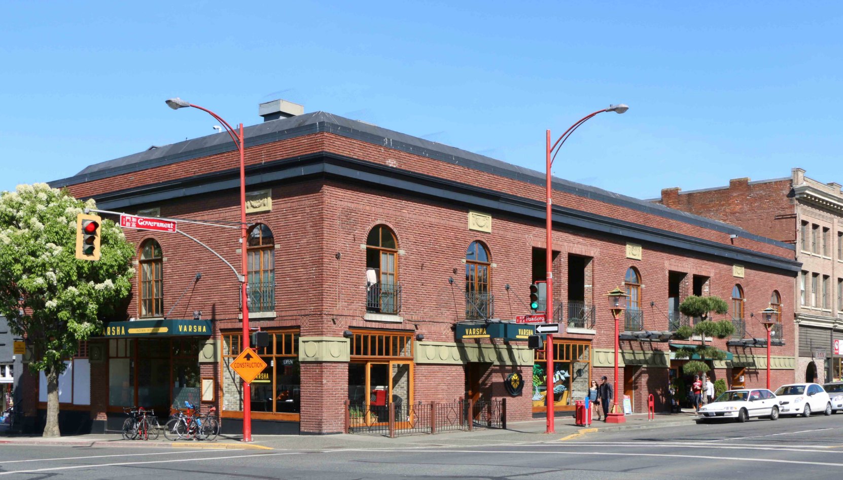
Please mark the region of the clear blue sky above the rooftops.
POLYGON ((0 3, 0 190, 283 98, 625 195, 843 183, 840 2, 0 3))

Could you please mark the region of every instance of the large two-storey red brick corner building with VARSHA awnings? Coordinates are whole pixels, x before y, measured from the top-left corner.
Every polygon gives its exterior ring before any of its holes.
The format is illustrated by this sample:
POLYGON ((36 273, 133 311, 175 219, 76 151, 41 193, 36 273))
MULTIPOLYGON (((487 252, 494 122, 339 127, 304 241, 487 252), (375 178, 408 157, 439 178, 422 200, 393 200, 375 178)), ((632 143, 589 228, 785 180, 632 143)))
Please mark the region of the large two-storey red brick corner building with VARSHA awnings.
MULTIPOLYGON (((555 179, 552 307, 563 333, 548 375, 510 330, 530 313, 529 285, 545 280, 544 173, 325 112, 247 127, 245 142, 250 324, 271 333, 260 351, 269 366, 252 385, 255 433, 340 431, 346 400, 507 397, 509 421, 529 419, 545 410, 548 377, 556 409, 569 411, 591 379, 614 380, 605 295, 618 286, 633 296, 619 363, 636 412, 648 394, 666 408, 668 381, 681 376, 672 352, 693 342, 671 332, 689 322, 676 308, 691 294, 729 301, 740 292, 744 315, 735 319, 749 341, 714 339, 730 360, 712 372, 730 385, 765 384, 766 353, 751 340, 764 327, 750 313, 774 294, 792 310, 792 244, 555 179), (503 387, 513 372, 527 380, 515 396, 503 387)), ((103 210, 234 222, 237 165, 223 133, 94 164, 52 185, 103 210)), ((236 230, 179 229, 239 264, 236 230)), ((99 379, 89 405, 62 408, 110 429, 124 406, 188 398, 217 406, 224 429, 238 431, 239 381, 228 367, 239 352, 237 277, 179 233, 126 236, 138 248, 137 289, 125 318, 92 339, 80 363, 99 379)), ((773 383, 793 377, 791 323, 783 339, 771 352, 773 383)))

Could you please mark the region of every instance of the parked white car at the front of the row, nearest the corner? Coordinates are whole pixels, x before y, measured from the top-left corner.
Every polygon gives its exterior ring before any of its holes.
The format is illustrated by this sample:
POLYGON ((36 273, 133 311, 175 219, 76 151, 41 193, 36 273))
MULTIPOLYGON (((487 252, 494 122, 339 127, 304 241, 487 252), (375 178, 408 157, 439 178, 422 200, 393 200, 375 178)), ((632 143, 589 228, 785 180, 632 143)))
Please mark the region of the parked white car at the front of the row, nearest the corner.
POLYGON ((709 419, 736 419, 745 422, 750 417, 779 418, 778 399, 765 388, 741 388, 722 392, 713 403, 700 408, 698 422, 709 419))

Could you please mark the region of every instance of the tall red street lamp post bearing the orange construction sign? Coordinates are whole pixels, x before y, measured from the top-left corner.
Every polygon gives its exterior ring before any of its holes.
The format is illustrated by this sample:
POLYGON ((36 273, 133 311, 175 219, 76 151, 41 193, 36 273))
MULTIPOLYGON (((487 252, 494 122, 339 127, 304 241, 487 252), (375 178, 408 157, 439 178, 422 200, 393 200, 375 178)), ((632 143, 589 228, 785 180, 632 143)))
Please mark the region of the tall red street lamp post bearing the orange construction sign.
MULTIPOLYGON (((249 298, 246 296, 246 285, 248 285, 249 269, 247 267, 246 256, 246 163, 245 152, 243 144, 243 124, 241 123, 238 130, 234 130, 228 122, 223 120, 219 115, 213 113, 211 110, 185 102, 178 97, 175 99, 166 100, 167 105, 171 109, 182 109, 185 107, 193 107, 207 112, 213 118, 219 120, 228 131, 228 135, 237 145, 237 150, 240 154, 240 253, 241 255, 241 274, 240 274, 240 298, 243 304, 243 339, 241 349, 249 348, 249 298)), ((243 441, 252 441, 252 393, 249 383, 243 382, 243 441)))

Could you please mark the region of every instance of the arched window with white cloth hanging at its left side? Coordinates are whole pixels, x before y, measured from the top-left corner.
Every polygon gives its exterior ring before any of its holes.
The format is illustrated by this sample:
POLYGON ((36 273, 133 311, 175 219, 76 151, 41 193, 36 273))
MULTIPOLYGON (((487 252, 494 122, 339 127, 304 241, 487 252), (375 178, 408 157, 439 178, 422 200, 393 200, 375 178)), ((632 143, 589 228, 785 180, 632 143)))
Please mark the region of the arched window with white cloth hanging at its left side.
POLYGON ((400 311, 398 242, 385 225, 375 226, 366 238, 366 310, 395 315, 400 311))

